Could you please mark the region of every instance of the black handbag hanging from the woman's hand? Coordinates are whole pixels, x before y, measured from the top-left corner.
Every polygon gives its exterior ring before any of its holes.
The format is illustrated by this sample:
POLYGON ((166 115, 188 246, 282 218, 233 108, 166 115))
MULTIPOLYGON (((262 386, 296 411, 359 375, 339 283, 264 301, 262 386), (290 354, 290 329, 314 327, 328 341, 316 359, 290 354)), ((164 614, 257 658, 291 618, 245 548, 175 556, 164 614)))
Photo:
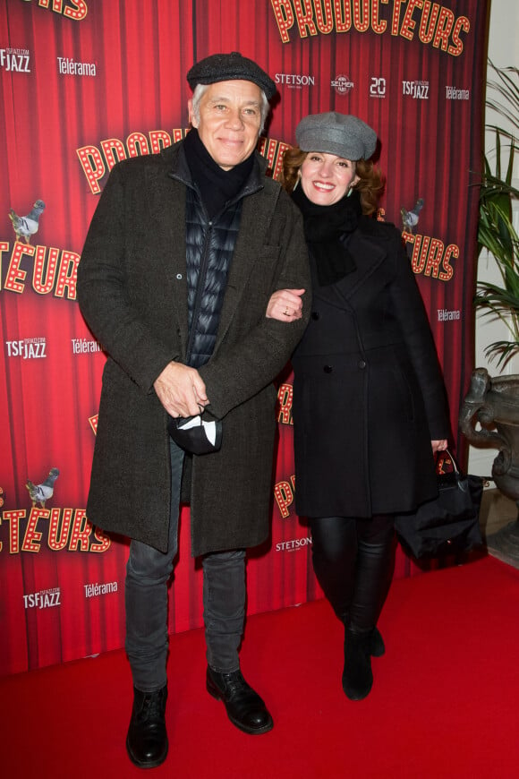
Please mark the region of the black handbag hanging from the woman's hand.
POLYGON ((481 476, 463 475, 447 449, 436 461, 438 498, 409 514, 395 518, 395 529, 404 550, 416 558, 443 557, 469 552, 483 543, 480 507, 481 476))

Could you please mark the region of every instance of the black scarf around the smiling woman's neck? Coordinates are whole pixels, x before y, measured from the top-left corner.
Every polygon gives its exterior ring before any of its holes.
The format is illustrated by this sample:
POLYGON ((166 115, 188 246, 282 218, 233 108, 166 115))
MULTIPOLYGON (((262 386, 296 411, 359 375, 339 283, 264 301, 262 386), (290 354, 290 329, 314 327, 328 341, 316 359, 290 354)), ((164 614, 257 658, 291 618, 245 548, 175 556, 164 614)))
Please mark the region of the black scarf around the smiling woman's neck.
POLYGON ((299 184, 292 199, 302 212, 304 235, 316 262, 319 285, 328 287, 353 273, 357 266, 348 252, 345 237, 359 224, 362 214, 359 193, 353 189, 331 206, 319 206, 307 198, 299 184))

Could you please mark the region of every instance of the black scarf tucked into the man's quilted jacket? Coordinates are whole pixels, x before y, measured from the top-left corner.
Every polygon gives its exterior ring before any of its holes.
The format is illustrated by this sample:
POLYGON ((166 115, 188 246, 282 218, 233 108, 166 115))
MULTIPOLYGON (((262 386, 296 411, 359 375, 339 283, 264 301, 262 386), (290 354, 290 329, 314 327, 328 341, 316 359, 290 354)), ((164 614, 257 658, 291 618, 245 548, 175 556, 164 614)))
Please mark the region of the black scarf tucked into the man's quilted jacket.
POLYGON ((183 148, 193 181, 198 185, 208 217, 213 218, 225 208, 228 201, 240 192, 243 184, 251 175, 254 154, 230 170, 224 170, 211 157, 194 127, 185 136, 183 148))

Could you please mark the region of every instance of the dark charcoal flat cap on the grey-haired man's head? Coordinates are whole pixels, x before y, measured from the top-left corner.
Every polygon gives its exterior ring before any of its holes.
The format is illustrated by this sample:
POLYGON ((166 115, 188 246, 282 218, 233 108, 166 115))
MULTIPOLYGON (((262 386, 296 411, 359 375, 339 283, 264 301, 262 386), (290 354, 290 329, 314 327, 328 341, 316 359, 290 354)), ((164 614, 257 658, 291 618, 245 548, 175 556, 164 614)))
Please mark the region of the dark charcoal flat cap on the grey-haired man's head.
POLYGON ((194 90, 197 84, 215 84, 217 81, 252 81, 263 90, 270 100, 277 92, 276 84, 259 64, 239 51, 230 54, 212 54, 193 64, 187 74, 187 81, 194 90))

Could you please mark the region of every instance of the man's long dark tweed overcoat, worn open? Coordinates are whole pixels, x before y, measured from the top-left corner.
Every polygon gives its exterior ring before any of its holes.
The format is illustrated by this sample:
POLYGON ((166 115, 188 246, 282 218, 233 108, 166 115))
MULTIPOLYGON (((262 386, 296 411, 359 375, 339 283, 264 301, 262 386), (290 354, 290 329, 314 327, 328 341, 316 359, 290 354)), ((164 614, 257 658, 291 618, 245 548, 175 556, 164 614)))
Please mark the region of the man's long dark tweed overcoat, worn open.
MULTIPOLYGON (((187 339, 185 185, 181 144, 119 163, 94 214, 78 271, 81 312, 109 355, 87 504, 89 520, 166 551, 170 516, 166 411, 153 382, 187 339)), ((256 155, 261 170, 265 160, 256 155)), ((308 321, 267 319, 278 288, 310 292, 302 219, 276 182, 244 198, 217 343, 200 368, 222 448, 193 458, 192 553, 268 537, 276 389, 308 321)), ((310 295, 305 295, 308 298, 310 295)))

